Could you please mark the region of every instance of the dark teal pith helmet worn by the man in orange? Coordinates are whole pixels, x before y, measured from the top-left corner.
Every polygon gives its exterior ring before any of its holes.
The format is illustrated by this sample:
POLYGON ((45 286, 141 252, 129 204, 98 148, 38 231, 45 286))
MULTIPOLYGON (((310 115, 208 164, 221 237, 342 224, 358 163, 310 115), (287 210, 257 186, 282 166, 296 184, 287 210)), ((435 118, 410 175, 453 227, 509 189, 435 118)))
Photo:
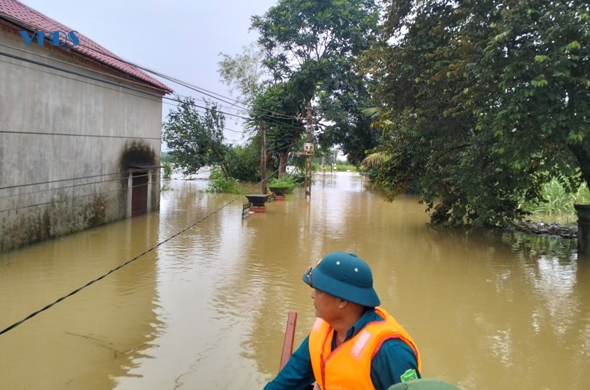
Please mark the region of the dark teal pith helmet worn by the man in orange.
POLYGON ((314 289, 367 307, 380 305, 373 289, 373 273, 369 265, 354 253, 332 252, 315 268, 307 270, 303 281, 314 289))

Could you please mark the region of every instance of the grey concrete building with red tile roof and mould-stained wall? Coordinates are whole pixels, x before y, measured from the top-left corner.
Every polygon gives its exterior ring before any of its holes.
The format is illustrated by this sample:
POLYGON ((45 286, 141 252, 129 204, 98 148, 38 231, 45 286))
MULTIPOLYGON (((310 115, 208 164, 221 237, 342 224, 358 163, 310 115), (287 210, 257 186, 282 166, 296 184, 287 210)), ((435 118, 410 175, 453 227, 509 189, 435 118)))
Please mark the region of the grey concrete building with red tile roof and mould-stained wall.
POLYGON ((159 210, 171 92, 82 33, 0 0, 0 251, 159 210))

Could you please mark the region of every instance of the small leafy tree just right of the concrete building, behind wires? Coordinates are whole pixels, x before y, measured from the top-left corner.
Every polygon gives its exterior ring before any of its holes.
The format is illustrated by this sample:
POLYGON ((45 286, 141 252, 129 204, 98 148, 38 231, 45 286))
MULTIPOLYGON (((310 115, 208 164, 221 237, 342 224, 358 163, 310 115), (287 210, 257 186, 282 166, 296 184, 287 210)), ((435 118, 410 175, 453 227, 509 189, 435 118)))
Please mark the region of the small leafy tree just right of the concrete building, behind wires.
POLYGON ((178 98, 162 124, 162 139, 183 175, 196 173, 202 167, 219 166, 226 178, 228 146, 224 144, 225 116, 216 103, 207 102, 201 115, 192 97, 178 98))

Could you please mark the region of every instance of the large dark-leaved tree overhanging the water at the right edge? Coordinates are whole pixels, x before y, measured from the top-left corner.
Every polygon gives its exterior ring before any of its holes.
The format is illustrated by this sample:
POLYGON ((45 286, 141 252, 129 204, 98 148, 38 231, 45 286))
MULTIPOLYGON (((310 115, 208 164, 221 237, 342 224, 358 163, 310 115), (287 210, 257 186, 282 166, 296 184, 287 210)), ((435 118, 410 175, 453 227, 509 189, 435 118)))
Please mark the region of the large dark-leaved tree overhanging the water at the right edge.
POLYGON ((582 1, 388 1, 364 68, 390 199, 412 186, 432 223, 502 225, 557 171, 590 178, 588 23, 582 1))

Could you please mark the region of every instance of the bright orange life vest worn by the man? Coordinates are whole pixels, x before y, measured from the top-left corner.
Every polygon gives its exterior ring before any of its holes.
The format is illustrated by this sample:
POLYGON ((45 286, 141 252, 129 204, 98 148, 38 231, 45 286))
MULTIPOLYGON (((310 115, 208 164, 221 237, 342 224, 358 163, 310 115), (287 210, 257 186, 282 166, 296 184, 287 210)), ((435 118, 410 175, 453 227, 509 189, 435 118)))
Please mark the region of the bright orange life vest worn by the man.
POLYGON ((375 311, 383 321, 368 323, 333 351, 334 329, 326 321, 316 319, 309 343, 314 376, 320 389, 375 390, 371 382, 371 359, 387 339, 401 339, 410 346, 416 355, 418 371, 421 370, 420 353, 410 334, 385 310, 376 307, 375 311))

